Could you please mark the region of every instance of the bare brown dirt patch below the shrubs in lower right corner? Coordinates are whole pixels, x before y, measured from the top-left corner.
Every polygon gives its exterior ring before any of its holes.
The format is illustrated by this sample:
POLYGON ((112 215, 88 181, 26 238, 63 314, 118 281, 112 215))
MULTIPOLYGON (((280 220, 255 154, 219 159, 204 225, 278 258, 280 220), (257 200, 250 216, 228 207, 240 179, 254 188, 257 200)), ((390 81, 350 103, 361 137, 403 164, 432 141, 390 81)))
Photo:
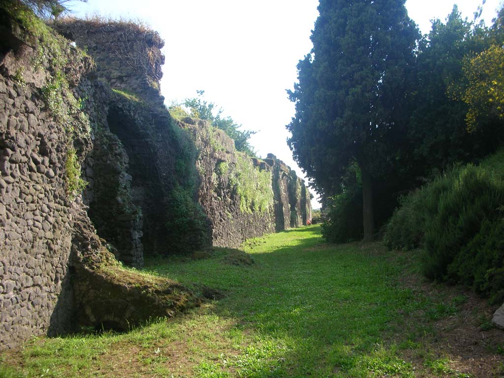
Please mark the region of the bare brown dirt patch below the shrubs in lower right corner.
MULTIPOLYGON (((504 331, 490 323, 498 306, 489 305, 465 287, 430 282, 411 272, 402 277, 400 286, 457 307, 451 316, 428 321, 432 331, 422 337, 426 350, 404 352, 405 359, 418 366, 416 376, 458 378, 465 376, 458 375, 462 373, 473 378, 504 377, 504 331), (427 368, 426 359, 447 359, 447 372, 427 368)), ((417 322, 426 322, 426 318, 423 311, 413 314, 405 329, 414 329, 417 322)))

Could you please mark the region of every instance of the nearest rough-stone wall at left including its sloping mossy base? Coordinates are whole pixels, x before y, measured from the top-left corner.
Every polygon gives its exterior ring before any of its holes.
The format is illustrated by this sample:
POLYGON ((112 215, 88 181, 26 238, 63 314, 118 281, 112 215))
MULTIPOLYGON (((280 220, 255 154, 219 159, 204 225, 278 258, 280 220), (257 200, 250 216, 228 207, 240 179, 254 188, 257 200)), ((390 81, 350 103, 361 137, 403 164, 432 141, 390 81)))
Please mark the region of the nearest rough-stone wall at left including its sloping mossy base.
POLYGON ((197 304, 180 285, 120 268, 86 213, 93 96, 107 93, 92 59, 17 1, 0 4, 0 29, 0 349, 197 304))

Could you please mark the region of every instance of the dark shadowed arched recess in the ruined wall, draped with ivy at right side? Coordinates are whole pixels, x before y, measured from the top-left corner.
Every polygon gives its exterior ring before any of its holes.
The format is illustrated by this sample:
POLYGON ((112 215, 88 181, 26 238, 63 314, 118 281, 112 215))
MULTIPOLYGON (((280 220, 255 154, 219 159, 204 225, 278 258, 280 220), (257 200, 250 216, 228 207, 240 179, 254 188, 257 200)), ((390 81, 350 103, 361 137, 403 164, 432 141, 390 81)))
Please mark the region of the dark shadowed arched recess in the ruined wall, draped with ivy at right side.
POLYGON ((196 202, 193 142, 166 108, 117 93, 108 104, 88 159, 89 214, 100 235, 119 260, 135 266, 142 265, 141 250, 167 255, 209 247, 210 224, 196 202))

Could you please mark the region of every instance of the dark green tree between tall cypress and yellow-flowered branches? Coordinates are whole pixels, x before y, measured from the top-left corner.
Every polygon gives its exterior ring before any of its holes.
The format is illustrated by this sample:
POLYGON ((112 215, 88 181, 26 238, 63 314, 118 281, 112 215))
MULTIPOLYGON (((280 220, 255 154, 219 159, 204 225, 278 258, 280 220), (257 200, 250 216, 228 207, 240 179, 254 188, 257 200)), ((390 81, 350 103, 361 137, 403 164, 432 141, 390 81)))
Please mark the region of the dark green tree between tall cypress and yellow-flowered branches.
POLYGON ((434 20, 430 33, 420 41, 415 108, 408 128, 415 160, 411 168, 416 175, 488 153, 481 145, 482 135, 466 132, 467 105, 449 91, 462 78, 464 57, 483 48, 482 33, 474 22, 462 19, 454 6, 446 23, 434 20))

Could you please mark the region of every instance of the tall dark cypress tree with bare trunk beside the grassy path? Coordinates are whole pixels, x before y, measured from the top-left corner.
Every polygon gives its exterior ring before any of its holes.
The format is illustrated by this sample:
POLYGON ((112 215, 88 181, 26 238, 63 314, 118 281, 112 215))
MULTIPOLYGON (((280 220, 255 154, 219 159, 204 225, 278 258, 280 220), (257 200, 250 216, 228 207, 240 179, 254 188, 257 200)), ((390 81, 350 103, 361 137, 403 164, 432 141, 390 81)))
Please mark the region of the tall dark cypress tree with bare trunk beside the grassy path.
POLYGON ((289 91, 294 158, 323 195, 341 190, 357 163, 364 240, 373 235, 373 180, 397 158, 405 136, 419 32, 404 0, 321 0, 313 49, 289 91))

